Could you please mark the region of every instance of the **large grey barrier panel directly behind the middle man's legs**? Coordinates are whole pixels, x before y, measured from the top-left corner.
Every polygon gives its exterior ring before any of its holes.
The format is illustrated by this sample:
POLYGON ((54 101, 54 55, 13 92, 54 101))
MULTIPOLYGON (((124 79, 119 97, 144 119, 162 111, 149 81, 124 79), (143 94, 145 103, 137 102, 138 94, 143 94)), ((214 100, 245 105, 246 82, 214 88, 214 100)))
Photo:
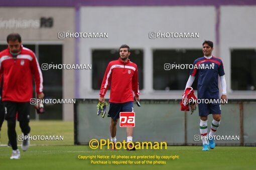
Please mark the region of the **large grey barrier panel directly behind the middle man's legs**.
MULTIPOLYGON (((80 143, 90 139, 110 138, 110 118, 97 116, 96 100, 91 103, 77 105, 77 135, 80 143)), ((109 109, 109 106, 107 110, 109 109)), ((174 103, 144 103, 138 107, 135 104, 136 126, 135 141, 166 141, 170 144, 184 144, 185 118, 180 106, 174 103)), ((116 137, 118 141, 126 140, 126 128, 117 124, 116 137)))

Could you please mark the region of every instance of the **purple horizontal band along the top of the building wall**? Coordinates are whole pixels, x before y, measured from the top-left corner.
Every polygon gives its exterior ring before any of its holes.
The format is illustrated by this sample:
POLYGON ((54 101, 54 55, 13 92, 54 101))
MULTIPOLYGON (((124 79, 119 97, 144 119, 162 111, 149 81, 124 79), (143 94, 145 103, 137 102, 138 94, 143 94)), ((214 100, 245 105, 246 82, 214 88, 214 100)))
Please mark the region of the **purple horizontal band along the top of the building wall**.
POLYGON ((0 0, 0 6, 255 5, 256 0, 0 0))

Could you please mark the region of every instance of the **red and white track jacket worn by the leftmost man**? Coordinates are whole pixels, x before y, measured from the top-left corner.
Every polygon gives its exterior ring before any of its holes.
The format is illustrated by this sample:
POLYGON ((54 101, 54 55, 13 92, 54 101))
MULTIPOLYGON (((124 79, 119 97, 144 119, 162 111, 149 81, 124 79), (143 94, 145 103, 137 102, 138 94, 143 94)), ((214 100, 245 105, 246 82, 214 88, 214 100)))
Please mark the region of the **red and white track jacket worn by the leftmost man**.
POLYGON ((36 92, 43 92, 43 75, 37 57, 32 50, 23 46, 21 48, 16 59, 9 48, 0 52, 0 74, 4 78, 3 101, 30 101, 33 97, 33 75, 36 92))

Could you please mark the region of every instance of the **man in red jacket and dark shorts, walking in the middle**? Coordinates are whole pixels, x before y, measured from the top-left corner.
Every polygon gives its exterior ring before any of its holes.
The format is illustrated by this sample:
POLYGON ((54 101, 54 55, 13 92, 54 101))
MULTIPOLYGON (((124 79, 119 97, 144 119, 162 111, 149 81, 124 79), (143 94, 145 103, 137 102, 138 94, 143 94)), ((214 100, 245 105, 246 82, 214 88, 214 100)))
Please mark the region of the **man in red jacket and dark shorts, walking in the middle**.
MULTIPOLYGON (((104 102, 104 95, 111 83, 108 117, 111 117, 110 133, 111 141, 116 142, 116 124, 119 112, 134 111, 134 95, 140 100, 138 67, 128 58, 131 54, 130 47, 126 44, 119 48, 120 58, 110 61, 107 65, 105 75, 100 88, 99 101, 104 102)), ((133 141, 133 127, 126 127, 127 142, 133 141)), ((112 147, 111 147, 112 148, 112 147)), ((132 146, 130 146, 132 148, 132 146)), ((114 148, 115 149, 115 148, 114 148)), ((127 150, 135 150, 135 148, 127 150)))

